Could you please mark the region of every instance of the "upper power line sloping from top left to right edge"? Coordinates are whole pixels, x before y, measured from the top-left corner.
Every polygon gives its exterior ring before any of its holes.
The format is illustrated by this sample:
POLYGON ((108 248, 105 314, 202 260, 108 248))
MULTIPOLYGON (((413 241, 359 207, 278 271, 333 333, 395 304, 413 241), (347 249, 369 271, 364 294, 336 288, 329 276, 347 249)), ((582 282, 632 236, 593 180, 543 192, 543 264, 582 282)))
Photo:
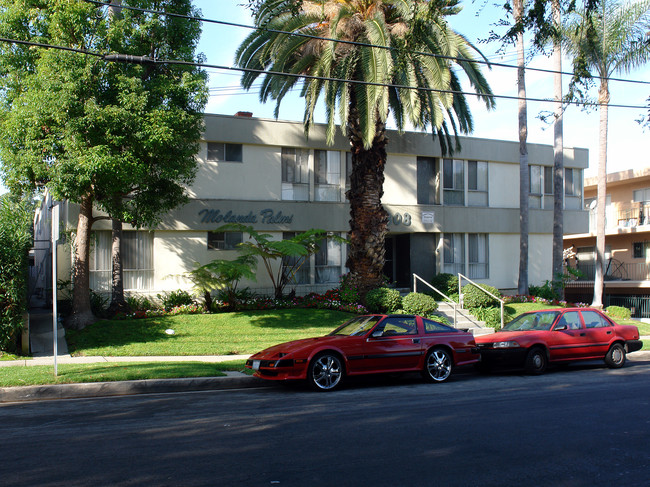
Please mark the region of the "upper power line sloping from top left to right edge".
MULTIPOLYGON (((84 0, 85 2, 88 3, 93 3, 95 5, 102 5, 102 6, 113 6, 112 4, 106 3, 106 2, 100 2, 99 0, 84 0)), ((339 44, 349 44, 353 46, 359 46, 359 47, 371 47, 371 48, 376 48, 376 49, 386 49, 386 50, 394 50, 394 47, 391 46, 379 46, 376 44, 368 44, 364 42, 358 42, 358 41, 348 41, 344 39, 333 39, 331 37, 321 37, 321 36, 315 36, 311 34, 305 34, 303 32, 288 32, 288 31, 283 31, 283 30, 277 30, 277 29, 267 29, 267 28, 259 28, 255 27, 252 25, 247 25, 247 24, 239 24, 236 22, 226 22, 224 20, 216 20, 216 19, 207 19, 204 17, 196 17, 193 15, 185 15, 185 14, 176 14, 176 13, 171 13, 171 12, 165 12, 163 10, 153 10, 153 9, 146 9, 146 8, 141 8, 141 7, 130 7, 126 5, 120 5, 121 8, 127 9, 127 10, 134 10, 137 12, 142 12, 142 13, 151 13, 151 14, 157 14, 157 15, 165 15, 168 17, 177 17, 181 19, 186 19, 186 20, 195 20, 197 22, 205 22, 205 23, 210 23, 210 24, 218 24, 218 25, 225 25, 228 27, 239 27, 243 29, 249 29, 249 30, 264 30, 266 32, 272 32, 276 34, 284 34, 288 36, 295 36, 295 37, 304 37, 307 39, 314 39, 314 40, 321 40, 321 41, 331 41, 331 42, 336 42, 339 44)), ((505 63, 497 63, 497 62, 492 62, 492 61, 485 61, 482 59, 473 59, 473 60, 468 60, 468 59, 462 59, 462 58, 457 58, 453 56, 445 56, 442 54, 434 54, 430 52, 419 52, 419 51, 413 51, 413 54, 418 54, 422 56, 428 56, 428 57, 434 57, 437 59, 446 59, 450 61, 460 61, 460 62, 473 62, 477 64, 485 64, 489 67, 496 66, 500 68, 509 68, 509 69, 519 69, 518 66, 513 66, 512 64, 505 64, 505 63)), ((555 74, 559 73, 562 75, 566 76, 573 76, 573 73, 567 72, 567 71, 556 71, 553 69, 545 69, 545 68, 531 68, 531 67, 526 67, 525 68, 527 71, 537 71, 541 73, 548 73, 548 74, 555 74)), ((592 78, 594 79, 600 79, 598 76, 593 76, 592 78)), ((623 78, 607 78, 608 81, 620 81, 624 83, 637 83, 637 84, 650 84, 650 81, 644 81, 644 80, 631 80, 631 79, 623 79, 623 78)))

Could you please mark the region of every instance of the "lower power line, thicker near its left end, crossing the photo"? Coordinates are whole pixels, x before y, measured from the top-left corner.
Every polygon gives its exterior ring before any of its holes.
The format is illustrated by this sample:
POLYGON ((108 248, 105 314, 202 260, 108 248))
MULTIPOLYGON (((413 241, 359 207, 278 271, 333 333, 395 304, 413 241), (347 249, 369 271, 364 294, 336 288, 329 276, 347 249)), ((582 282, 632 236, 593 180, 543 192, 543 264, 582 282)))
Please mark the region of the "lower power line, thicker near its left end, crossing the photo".
MULTIPOLYGON (((87 0, 88 1, 88 0, 87 0)), ((519 100, 520 98, 518 96, 511 96, 511 95, 488 95, 488 94, 483 94, 483 93, 473 93, 473 92, 467 92, 467 91, 457 91, 457 90, 441 90, 437 88, 424 88, 424 87, 419 87, 419 86, 406 86, 406 85, 396 85, 392 83, 376 83, 376 82, 371 82, 371 81, 361 81, 361 80, 348 80, 348 79, 340 79, 340 78, 330 78, 326 76, 313 76, 309 74, 295 74, 295 73, 284 73, 280 71, 269 71, 269 70, 264 70, 264 69, 253 69, 253 68, 239 68, 239 67, 232 67, 232 66, 223 66, 223 65, 218 65, 218 64, 203 64, 203 63, 197 63, 197 62, 191 62, 191 61, 179 61, 179 60, 172 60, 172 59, 157 59, 157 58, 150 58, 147 56, 132 56, 129 54, 100 54, 97 52, 92 52, 92 51, 87 51, 87 50, 82 50, 82 49, 75 49, 71 47, 65 47, 65 46, 58 46, 58 45, 53 45, 53 44, 43 44, 43 43, 38 43, 38 42, 31 42, 31 41, 22 41, 22 40, 17 40, 17 39, 8 39, 5 37, 0 37, 0 42, 8 42, 8 43, 17 43, 17 44, 22 44, 22 45, 28 45, 28 46, 36 46, 36 47, 42 47, 45 49, 59 49, 59 50, 64 50, 64 51, 73 51, 75 53, 79 54, 85 54, 88 56, 95 56, 95 57, 100 57, 108 62, 125 62, 125 63, 137 63, 137 64, 149 64, 149 65, 158 65, 158 64, 166 64, 166 65, 176 65, 176 66, 192 66, 192 67, 201 67, 201 68, 208 68, 208 69, 218 69, 218 70, 223 70, 223 71, 239 71, 239 72, 245 72, 245 73, 255 73, 255 74, 264 74, 264 75, 271 75, 271 76, 282 76, 282 77, 287 77, 287 78, 300 78, 300 79, 306 79, 306 80, 319 80, 319 81, 328 81, 328 82, 335 82, 335 83, 349 83, 349 84, 354 84, 354 85, 362 85, 362 86, 379 86, 379 87, 384 87, 384 88, 393 88, 393 89, 402 89, 402 90, 418 90, 418 91, 425 91, 425 92, 431 92, 431 93, 442 93, 442 94, 452 94, 452 95, 464 95, 464 96, 474 96, 477 98, 500 98, 500 99, 505 99, 505 100, 519 100)), ((557 103, 555 100, 548 99, 548 98, 531 98, 531 97, 526 97, 526 101, 533 101, 533 102, 544 102, 544 103, 557 103)), ((563 101, 563 104, 567 105, 580 105, 580 106, 600 106, 599 103, 597 102, 576 102, 576 101, 563 101)), ((619 105, 619 104, 608 104, 607 105, 610 108, 634 108, 637 110, 645 110, 647 106, 639 106, 639 105, 619 105)))

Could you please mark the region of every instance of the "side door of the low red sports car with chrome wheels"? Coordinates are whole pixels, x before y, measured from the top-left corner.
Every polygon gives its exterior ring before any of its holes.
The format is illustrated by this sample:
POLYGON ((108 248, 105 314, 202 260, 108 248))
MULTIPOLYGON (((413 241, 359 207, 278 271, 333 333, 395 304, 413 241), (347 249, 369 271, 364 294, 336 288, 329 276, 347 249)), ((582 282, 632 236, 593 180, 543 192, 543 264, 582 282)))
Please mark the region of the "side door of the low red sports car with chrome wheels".
POLYGON ((413 369, 422 354, 422 337, 414 316, 389 316, 366 339, 365 372, 413 369))

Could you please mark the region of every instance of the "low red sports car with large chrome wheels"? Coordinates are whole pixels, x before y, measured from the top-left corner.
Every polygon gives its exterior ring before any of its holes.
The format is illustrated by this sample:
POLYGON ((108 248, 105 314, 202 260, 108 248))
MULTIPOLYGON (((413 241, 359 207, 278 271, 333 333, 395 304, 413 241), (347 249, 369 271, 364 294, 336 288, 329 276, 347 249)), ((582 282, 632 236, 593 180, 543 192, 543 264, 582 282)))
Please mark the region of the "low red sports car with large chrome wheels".
POLYGON ((329 335, 282 343, 246 361, 255 376, 306 379, 316 390, 339 386, 346 376, 421 371, 442 382, 457 365, 480 360, 474 336, 415 315, 363 315, 329 335))

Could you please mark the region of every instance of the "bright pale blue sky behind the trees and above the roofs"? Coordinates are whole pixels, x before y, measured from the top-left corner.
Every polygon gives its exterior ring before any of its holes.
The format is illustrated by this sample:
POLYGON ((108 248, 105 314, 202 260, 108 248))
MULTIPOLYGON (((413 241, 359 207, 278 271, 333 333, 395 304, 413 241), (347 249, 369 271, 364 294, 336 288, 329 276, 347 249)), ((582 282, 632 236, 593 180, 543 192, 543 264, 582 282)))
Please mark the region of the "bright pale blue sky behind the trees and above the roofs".
MULTIPOLYGON (((201 9, 202 17, 224 22, 252 26, 248 10, 241 6, 243 0, 195 0, 201 9)), ((503 9, 492 3, 462 2, 461 14, 451 17, 451 26, 473 42, 492 62, 516 64, 514 48, 505 54, 497 54, 497 43, 480 42, 489 36, 491 30, 497 29, 495 23, 503 16, 503 9)), ((234 66, 235 51, 241 41, 250 33, 250 29, 204 23, 199 51, 206 56, 207 64, 234 66)), ((528 46, 527 46, 528 47, 528 46)), ((534 56, 528 66, 551 69, 551 60, 542 54, 534 56)), ((564 60, 563 71, 571 71, 570 62, 564 60)), ((484 70, 486 77, 497 95, 517 95, 516 70, 494 67, 484 70)), ((238 111, 250 111, 254 117, 274 118, 275 102, 262 104, 257 92, 252 89, 246 93, 239 84, 241 74, 236 71, 208 70, 210 81, 210 100, 207 113, 234 115, 238 111)), ((618 73, 617 78, 629 80, 650 80, 650 65, 631 72, 618 73)), ((568 77, 565 77, 568 78, 568 77)), ((568 80, 567 80, 568 82, 568 80)), ((467 88, 467 86, 465 87, 467 88)), ((552 98, 553 79, 550 73, 528 71, 526 89, 529 97, 552 98)), ((469 91, 469 90, 466 90, 469 91)), ((650 96, 650 84, 633 84, 612 81, 610 83, 611 104, 647 106, 650 96)), ((592 90, 596 96, 596 88, 592 90)), ((469 97, 474 117, 473 136, 489 139, 518 140, 517 102, 516 100, 497 99, 496 109, 487 111, 485 106, 474 97, 469 97)), ((528 105, 528 142, 553 143, 551 125, 537 118, 544 110, 550 110, 549 103, 529 102, 528 105)), ((287 96, 280 107, 279 118, 282 120, 302 121, 304 103, 297 95, 287 96)), ((650 130, 643 129, 635 122, 647 109, 614 108, 609 110, 608 138, 608 173, 625 169, 640 169, 650 166, 650 130)), ((316 122, 325 122, 324 110, 317 113, 316 122)), ((570 107, 564 114, 565 147, 582 147, 589 149, 589 168, 586 177, 596 175, 598 166, 598 127, 597 110, 584 111, 579 107, 570 107)), ((390 148, 388 149, 390 152, 390 148)), ((531 161, 532 162, 532 161, 531 161)))

